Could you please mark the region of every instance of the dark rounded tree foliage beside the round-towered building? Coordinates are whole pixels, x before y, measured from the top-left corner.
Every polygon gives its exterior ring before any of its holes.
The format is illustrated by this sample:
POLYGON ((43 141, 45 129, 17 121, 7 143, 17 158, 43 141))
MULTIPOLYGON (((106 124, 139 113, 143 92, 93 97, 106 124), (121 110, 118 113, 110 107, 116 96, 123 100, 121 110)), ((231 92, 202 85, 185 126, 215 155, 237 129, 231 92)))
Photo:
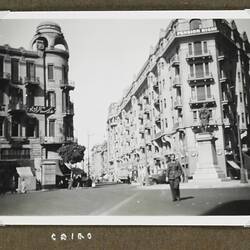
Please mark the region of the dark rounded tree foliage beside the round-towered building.
POLYGON ((83 160, 85 147, 77 143, 64 145, 58 149, 58 154, 66 163, 77 163, 83 160))

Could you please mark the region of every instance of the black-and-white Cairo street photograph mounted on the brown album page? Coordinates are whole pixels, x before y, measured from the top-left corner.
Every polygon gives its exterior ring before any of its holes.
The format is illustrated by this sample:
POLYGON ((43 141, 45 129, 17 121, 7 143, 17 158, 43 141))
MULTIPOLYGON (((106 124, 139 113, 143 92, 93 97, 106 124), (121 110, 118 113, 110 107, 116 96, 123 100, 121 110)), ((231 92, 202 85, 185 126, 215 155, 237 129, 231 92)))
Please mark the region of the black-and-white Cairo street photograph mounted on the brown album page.
POLYGON ((0 22, 0 218, 249 216, 250 19, 99 15, 0 22))

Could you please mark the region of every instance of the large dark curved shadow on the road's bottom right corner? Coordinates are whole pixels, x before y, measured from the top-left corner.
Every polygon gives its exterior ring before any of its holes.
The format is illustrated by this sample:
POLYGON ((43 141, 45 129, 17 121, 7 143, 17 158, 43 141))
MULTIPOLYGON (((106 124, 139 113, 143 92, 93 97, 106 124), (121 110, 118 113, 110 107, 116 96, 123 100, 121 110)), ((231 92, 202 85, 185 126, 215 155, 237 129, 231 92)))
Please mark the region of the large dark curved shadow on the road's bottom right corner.
POLYGON ((250 200, 237 200, 221 204, 203 215, 250 215, 250 200))

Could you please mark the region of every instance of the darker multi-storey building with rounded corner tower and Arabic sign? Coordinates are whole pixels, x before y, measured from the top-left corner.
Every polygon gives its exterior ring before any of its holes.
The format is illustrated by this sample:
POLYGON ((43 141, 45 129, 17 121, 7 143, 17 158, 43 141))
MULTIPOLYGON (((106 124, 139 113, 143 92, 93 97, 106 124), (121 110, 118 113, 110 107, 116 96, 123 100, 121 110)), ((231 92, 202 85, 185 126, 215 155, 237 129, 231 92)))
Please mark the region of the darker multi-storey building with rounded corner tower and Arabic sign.
POLYGON ((54 182, 57 150, 74 140, 68 58, 61 28, 51 22, 37 27, 30 50, 0 46, 2 185, 8 186, 13 176, 17 179, 17 172, 36 176, 44 186, 54 182))

